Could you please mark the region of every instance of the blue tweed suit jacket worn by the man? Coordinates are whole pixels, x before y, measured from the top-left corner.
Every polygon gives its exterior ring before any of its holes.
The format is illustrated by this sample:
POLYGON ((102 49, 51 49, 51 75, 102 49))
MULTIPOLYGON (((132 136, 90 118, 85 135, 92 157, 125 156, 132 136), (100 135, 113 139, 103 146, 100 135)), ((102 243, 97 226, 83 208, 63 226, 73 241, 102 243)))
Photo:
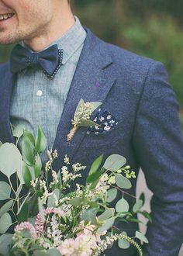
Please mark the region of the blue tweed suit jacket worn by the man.
MULTIPOLYGON (((178 119, 178 103, 167 81, 164 66, 99 40, 89 29, 75 71, 64 112, 54 142, 60 154, 54 168, 63 164, 64 154, 71 162, 90 166, 100 154, 121 154, 138 173, 143 169, 154 197, 153 223, 148 225, 149 244, 144 255, 177 256, 183 241, 183 139, 178 119), (119 124, 102 134, 78 130, 71 143, 67 133, 80 99, 102 102, 119 124)), ((13 142, 9 105, 16 77, 9 63, 0 67, 0 140, 13 142)), ((94 119, 96 112, 93 113, 94 119)), ((130 193, 135 194, 135 182, 130 193)), ((132 200, 132 199, 128 199, 132 200)), ((133 235, 136 223, 119 226, 133 235)), ((135 255, 131 247, 121 251, 114 245, 107 255, 135 255)))

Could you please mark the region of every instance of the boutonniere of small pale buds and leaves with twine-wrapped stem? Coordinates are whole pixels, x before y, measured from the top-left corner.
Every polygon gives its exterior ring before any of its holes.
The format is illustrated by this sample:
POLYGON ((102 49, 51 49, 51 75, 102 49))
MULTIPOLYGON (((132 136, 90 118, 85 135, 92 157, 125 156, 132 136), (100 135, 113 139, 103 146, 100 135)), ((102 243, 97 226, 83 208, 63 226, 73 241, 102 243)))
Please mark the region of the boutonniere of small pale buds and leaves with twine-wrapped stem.
POLYGON ((95 109, 97 109, 98 106, 100 106, 101 104, 102 102, 84 102, 83 99, 80 100, 74 112, 74 118, 71 119, 73 128, 67 134, 67 142, 72 140, 79 126, 100 126, 98 125, 98 123, 95 123, 94 121, 90 120, 90 118, 91 113, 94 112, 95 109))

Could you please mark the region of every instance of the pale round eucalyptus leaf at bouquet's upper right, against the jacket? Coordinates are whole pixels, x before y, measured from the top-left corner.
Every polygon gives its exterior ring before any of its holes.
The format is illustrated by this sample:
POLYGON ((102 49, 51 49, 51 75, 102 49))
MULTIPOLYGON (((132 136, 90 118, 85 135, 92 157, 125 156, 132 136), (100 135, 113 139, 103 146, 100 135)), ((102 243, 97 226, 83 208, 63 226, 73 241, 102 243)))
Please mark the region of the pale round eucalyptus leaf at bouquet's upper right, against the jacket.
POLYGON ((103 168, 109 171, 117 171, 126 164, 126 158, 119 154, 112 154, 108 157, 103 165, 103 168))

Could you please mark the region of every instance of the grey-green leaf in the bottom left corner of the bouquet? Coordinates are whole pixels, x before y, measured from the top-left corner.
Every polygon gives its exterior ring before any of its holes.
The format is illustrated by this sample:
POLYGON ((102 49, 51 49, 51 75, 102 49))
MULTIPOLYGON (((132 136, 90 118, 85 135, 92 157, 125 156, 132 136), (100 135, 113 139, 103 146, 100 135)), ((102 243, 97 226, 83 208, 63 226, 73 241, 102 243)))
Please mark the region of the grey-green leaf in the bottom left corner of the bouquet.
POLYGON ((3 234, 0 236, 0 254, 9 256, 9 248, 12 244, 12 234, 3 234))

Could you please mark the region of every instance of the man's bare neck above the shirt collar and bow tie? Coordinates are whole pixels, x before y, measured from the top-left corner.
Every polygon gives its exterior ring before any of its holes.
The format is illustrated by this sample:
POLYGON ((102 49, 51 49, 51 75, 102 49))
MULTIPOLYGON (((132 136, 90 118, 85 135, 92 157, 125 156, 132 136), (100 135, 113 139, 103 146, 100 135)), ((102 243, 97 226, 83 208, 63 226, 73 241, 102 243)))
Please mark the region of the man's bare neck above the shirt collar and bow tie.
POLYGON ((25 43, 32 50, 39 52, 63 36, 74 25, 74 22, 71 9, 67 9, 67 12, 56 12, 53 22, 49 24, 47 30, 43 29, 42 32, 39 32, 38 36, 25 40, 25 43))

